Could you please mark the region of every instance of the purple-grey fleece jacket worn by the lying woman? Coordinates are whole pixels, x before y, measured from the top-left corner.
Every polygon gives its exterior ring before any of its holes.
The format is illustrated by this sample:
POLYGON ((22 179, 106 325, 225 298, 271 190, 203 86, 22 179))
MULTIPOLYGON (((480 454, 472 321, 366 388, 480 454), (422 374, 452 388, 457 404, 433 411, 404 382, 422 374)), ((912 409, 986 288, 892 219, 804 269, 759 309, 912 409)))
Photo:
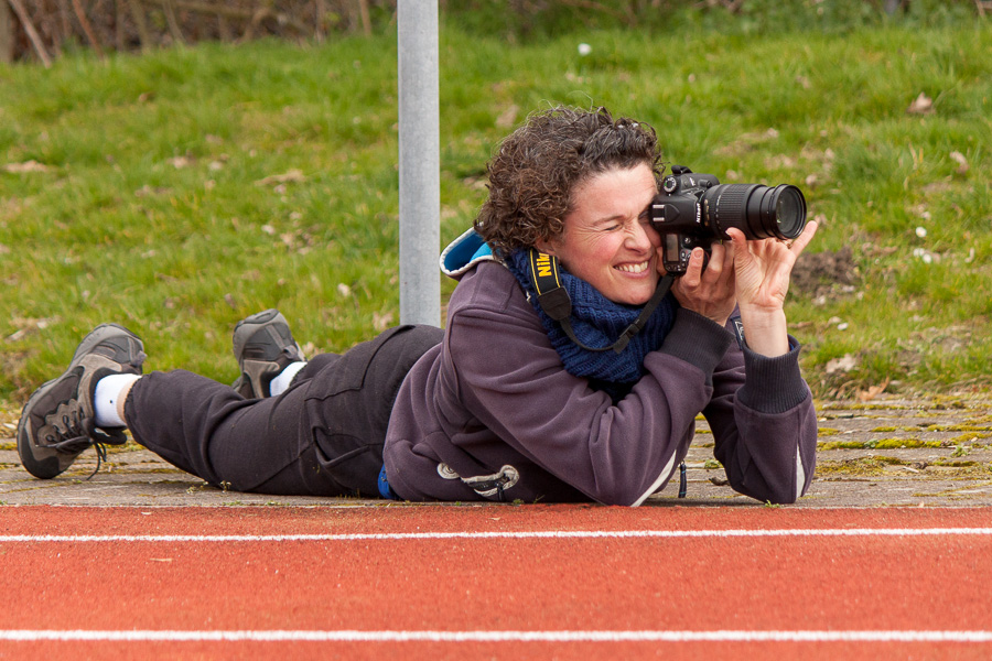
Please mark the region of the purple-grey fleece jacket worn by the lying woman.
POLYGON ((758 356, 679 310, 647 373, 614 405, 564 370, 513 274, 483 262, 451 297, 444 342, 399 390, 389 485, 407 500, 636 506, 671 478, 702 412, 731 486, 792 502, 812 479, 817 419, 791 344, 758 356))

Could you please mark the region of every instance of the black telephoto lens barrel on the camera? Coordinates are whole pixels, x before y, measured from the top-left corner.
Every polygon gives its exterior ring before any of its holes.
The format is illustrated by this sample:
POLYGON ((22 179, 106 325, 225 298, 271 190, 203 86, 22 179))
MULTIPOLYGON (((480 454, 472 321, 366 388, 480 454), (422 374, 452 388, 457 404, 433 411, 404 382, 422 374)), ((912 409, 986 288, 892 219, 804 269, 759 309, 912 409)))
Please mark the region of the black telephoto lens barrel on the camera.
POLYGON ((703 194, 708 221, 721 238, 736 227, 748 239, 795 239, 806 227, 806 198, 796 186, 720 184, 703 194))

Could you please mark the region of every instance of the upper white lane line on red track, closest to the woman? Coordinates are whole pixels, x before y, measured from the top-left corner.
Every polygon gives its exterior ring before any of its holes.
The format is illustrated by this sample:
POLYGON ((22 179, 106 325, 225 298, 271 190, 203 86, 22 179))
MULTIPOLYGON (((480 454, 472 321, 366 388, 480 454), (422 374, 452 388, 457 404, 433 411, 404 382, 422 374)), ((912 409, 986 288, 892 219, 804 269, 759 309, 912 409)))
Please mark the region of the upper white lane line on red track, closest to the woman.
POLYGON ((544 530, 382 532, 349 534, 4 534, 0 543, 31 542, 353 542, 490 539, 683 539, 992 535, 992 528, 824 528, 776 530, 544 530))

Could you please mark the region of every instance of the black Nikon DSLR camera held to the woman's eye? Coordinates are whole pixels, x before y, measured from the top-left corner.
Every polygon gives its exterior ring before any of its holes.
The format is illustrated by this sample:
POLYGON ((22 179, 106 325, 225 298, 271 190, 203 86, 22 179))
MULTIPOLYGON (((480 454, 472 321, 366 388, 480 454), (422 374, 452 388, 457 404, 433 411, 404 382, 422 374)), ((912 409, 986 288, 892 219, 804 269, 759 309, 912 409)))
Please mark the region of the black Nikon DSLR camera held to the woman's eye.
POLYGON ((806 227, 806 198, 796 186, 721 184, 712 174, 673 165, 651 202, 651 225, 661 235, 661 262, 672 275, 689 267, 696 247, 710 252, 736 227, 748 239, 795 239, 806 227))

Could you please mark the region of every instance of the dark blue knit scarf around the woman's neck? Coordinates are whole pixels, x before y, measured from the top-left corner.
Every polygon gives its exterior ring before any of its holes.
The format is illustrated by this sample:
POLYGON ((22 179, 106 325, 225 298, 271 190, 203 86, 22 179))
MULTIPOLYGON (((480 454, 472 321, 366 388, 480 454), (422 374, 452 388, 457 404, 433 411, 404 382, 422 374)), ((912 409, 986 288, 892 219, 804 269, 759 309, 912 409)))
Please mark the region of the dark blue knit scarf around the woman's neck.
MULTIPOLYGON (((593 388, 607 392, 614 401, 622 399, 645 375, 645 357, 648 351, 661 346, 675 322, 678 303, 669 292, 648 318, 644 330, 635 335, 623 351, 589 351, 569 339, 561 324, 544 314, 530 279, 527 250, 515 250, 506 260, 506 266, 528 294, 565 370, 589 379, 593 388)), ((594 286, 564 270, 561 271, 561 284, 572 300, 572 329, 579 340, 589 347, 611 346, 640 314, 640 307, 614 303, 594 286)))

